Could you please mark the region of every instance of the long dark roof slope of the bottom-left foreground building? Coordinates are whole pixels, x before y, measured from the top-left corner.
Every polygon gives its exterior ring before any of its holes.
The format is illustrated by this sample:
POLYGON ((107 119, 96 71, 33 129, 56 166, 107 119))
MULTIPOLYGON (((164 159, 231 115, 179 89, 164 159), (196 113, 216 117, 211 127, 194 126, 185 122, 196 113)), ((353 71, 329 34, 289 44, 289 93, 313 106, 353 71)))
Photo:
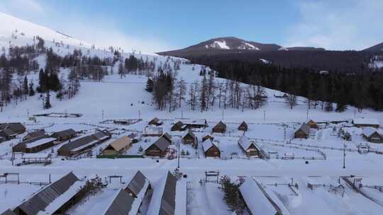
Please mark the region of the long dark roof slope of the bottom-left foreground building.
MULTIPOLYGON (((75 182, 79 182, 79 179, 72 172, 68 173, 59 180, 43 188, 39 192, 33 194, 32 197, 26 199, 25 202, 18 206, 26 214, 38 214, 39 211, 44 211, 52 202, 55 201, 62 194, 74 185, 75 182)), ((68 199, 69 200, 69 199, 68 199)), ((62 204, 64 204, 63 202, 62 204)), ((60 208, 60 206, 57 206, 60 208)), ((54 211, 52 211, 54 212, 54 211)))

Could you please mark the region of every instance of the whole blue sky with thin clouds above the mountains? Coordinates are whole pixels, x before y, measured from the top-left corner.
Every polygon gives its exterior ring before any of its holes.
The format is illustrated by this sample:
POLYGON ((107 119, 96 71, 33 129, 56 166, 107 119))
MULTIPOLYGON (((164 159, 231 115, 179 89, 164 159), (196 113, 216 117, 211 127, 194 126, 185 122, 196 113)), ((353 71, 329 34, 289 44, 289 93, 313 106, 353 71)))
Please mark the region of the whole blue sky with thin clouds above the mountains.
POLYGON ((0 11, 97 45, 145 52, 223 36, 331 50, 383 41, 381 0, 1 0, 0 11))

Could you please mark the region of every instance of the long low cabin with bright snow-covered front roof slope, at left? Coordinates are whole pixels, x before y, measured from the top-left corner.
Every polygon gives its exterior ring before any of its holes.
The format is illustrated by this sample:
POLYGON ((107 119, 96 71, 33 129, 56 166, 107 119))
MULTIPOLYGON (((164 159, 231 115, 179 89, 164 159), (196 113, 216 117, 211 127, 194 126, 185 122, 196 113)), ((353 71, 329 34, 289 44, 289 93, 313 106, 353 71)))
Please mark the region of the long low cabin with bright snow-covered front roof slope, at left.
POLYGON ((33 139, 22 141, 12 147, 13 152, 36 153, 55 146, 56 139, 48 135, 38 136, 33 139))

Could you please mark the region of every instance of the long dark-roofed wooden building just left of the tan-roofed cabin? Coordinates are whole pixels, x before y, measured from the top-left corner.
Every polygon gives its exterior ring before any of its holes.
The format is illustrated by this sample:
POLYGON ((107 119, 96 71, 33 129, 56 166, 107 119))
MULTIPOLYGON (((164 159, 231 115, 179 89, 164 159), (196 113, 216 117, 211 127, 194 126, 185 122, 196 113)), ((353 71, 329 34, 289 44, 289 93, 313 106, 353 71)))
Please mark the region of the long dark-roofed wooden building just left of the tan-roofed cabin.
POLYGON ((57 150, 57 155, 68 157, 78 156, 108 139, 111 139, 111 133, 107 130, 99 131, 88 136, 82 136, 79 139, 69 141, 67 144, 61 146, 60 149, 57 150))

